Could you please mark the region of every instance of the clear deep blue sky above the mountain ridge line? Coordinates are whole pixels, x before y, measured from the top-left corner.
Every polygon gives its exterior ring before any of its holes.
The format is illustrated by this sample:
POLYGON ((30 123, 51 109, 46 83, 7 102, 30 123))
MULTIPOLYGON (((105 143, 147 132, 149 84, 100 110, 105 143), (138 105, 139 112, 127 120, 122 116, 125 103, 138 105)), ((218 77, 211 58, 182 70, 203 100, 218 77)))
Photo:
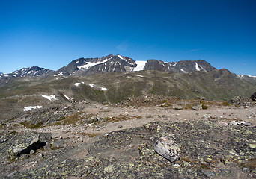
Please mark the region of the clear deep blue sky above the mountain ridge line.
POLYGON ((1 0, 0 22, 4 73, 121 54, 256 75, 255 0, 1 0))

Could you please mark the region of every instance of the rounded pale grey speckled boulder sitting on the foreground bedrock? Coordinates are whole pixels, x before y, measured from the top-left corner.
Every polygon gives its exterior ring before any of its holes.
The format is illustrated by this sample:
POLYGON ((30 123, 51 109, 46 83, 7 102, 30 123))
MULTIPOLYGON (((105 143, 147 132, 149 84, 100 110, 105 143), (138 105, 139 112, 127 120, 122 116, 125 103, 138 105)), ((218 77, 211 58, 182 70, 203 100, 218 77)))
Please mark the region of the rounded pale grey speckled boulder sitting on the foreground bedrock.
POLYGON ((162 136, 156 140, 155 151, 170 162, 180 159, 180 146, 169 136, 162 136))

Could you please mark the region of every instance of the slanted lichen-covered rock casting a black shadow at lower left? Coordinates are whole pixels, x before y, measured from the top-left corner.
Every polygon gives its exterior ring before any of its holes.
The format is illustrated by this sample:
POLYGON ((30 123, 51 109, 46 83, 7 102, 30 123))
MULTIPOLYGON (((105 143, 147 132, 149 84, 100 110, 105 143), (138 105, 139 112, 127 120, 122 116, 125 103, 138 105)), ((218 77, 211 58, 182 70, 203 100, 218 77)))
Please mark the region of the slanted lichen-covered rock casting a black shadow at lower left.
POLYGON ((8 156, 11 160, 19 157, 21 154, 29 154, 34 146, 38 145, 40 142, 39 135, 30 133, 24 134, 22 137, 17 139, 13 146, 8 150, 8 156))

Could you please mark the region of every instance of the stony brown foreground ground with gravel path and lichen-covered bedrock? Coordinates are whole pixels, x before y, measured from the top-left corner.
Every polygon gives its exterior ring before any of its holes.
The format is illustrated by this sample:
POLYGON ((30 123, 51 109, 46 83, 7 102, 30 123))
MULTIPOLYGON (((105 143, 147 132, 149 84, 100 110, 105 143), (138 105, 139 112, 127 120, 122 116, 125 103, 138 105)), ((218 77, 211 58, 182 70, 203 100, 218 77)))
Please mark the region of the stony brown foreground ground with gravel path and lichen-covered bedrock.
POLYGON ((254 105, 150 104, 72 104, 2 122, 1 178, 256 178, 254 105), (159 139, 173 140, 174 160, 159 139))

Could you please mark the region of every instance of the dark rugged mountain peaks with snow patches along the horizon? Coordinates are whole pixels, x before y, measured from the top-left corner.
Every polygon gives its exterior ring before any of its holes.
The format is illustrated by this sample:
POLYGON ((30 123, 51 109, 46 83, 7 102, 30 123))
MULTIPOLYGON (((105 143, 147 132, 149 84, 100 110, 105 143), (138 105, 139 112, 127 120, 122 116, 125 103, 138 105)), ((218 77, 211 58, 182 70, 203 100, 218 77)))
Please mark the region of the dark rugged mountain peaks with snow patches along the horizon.
POLYGON ((40 76, 69 76, 81 75, 88 76, 96 73, 105 72, 132 72, 140 70, 157 70, 162 72, 188 73, 194 71, 208 72, 215 70, 210 63, 204 60, 185 60, 178 62, 165 63, 162 60, 135 61, 132 58, 121 55, 108 55, 97 58, 79 58, 73 60, 67 66, 53 71, 50 69, 32 66, 22 68, 9 74, 0 75, 0 84, 7 84, 12 78, 17 77, 40 77, 40 76))

